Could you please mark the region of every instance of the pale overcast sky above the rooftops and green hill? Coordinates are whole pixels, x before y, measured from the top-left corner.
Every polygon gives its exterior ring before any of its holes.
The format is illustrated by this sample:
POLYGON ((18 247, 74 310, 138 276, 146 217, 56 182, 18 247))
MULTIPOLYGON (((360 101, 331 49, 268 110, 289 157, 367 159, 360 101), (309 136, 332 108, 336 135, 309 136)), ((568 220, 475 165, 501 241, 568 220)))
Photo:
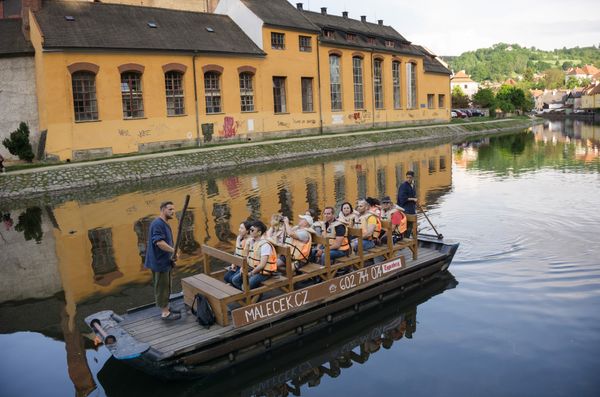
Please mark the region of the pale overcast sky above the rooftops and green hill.
POLYGON ((553 50, 600 44, 600 0, 299 0, 304 9, 383 19, 407 40, 437 55, 460 55, 492 44, 553 50))

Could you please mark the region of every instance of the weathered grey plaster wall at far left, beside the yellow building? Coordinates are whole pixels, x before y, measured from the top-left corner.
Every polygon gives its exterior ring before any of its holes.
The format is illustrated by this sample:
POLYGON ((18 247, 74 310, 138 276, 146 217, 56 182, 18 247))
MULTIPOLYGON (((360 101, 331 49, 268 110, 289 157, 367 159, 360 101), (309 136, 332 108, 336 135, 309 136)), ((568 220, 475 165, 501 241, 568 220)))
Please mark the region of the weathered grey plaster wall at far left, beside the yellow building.
MULTIPOLYGON (((39 133, 34 58, 0 58, 0 142, 16 130, 21 121, 29 125, 29 138, 35 149, 39 133)), ((7 159, 14 158, 1 143, 0 154, 7 159)))

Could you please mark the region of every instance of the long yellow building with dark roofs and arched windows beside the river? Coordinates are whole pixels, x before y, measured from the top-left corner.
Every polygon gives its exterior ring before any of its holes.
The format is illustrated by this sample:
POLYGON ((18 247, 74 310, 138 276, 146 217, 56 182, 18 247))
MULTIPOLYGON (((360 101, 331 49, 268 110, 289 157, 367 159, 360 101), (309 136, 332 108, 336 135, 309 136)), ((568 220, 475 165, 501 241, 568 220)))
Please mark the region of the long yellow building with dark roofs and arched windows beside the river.
POLYGON ((449 71, 423 47, 382 22, 299 8, 32 9, 38 152, 80 160, 449 119, 449 71))

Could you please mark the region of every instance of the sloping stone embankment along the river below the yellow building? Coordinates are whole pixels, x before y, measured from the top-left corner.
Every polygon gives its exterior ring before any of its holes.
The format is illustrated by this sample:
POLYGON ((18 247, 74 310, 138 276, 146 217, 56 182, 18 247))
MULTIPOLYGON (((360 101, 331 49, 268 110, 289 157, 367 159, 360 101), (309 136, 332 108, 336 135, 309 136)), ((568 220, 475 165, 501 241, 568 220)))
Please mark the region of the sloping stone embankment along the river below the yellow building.
POLYGON ((31 198, 70 189, 131 183, 168 175, 222 171, 259 163, 281 163, 399 144, 457 140, 474 135, 527 128, 531 124, 530 120, 508 119, 412 126, 207 146, 176 152, 31 168, 0 175, 0 198, 31 198))

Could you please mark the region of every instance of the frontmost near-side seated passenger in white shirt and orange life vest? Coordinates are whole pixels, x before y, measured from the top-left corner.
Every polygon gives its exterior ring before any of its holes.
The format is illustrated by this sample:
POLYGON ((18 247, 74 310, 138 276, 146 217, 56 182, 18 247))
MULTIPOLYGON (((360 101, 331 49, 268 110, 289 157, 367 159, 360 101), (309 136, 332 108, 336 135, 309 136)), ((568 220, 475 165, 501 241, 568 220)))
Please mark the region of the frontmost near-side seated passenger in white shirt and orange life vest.
MULTIPOLYGON (((250 226, 252 248, 248 255, 248 284, 250 289, 258 287, 277 271, 277 253, 275 247, 265 238, 267 226, 261 221, 254 221, 250 226)), ((242 272, 238 272, 231 279, 231 283, 238 289, 243 289, 242 272)))

